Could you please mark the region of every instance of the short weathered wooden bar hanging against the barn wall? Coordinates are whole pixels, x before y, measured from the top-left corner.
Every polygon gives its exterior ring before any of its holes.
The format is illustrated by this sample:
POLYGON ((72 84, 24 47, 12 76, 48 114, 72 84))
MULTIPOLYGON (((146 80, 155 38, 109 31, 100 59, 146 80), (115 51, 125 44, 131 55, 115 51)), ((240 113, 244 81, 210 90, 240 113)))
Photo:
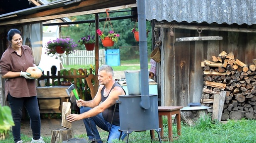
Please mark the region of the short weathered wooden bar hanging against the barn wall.
POLYGON ((198 36, 198 37, 182 37, 176 38, 176 42, 185 42, 185 41, 206 41, 206 40, 222 40, 222 36, 198 36))

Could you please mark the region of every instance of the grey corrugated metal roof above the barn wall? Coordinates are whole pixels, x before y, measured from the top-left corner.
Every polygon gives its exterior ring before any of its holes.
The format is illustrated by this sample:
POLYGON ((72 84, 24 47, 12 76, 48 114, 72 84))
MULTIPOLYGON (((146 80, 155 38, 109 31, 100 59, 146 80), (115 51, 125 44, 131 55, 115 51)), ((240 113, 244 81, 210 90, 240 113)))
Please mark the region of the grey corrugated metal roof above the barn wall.
POLYGON ((256 24, 256 0, 145 0, 146 19, 256 24))

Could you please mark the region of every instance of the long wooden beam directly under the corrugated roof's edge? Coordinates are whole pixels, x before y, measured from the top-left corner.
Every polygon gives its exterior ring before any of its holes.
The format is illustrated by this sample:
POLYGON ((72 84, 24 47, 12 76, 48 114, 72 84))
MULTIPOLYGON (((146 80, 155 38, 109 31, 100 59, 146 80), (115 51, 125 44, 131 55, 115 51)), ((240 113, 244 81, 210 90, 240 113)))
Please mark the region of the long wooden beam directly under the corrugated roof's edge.
MULTIPOLYGON (((156 24, 157 28, 170 28, 169 24, 156 24)), ((256 33, 256 29, 247 29, 247 28, 237 28, 237 27, 213 27, 213 26, 192 26, 192 25, 182 25, 182 24, 172 24, 173 28, 177 29, 188 29, 188 30, 197 30, 200 27, 202 30, 209 31, 227 31, 227 32, 245 32, 245 33, 256 33)))

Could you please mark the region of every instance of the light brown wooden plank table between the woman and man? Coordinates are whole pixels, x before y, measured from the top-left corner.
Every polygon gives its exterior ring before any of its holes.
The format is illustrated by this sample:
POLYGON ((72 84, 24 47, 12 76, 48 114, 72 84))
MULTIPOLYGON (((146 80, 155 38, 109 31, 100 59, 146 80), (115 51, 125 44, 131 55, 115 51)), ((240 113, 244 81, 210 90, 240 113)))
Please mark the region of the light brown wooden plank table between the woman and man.
POLYGON ((38 86, 36 87, 40 113, 61 113, 62 103, 68 102, 68 99, 69 99, 69 96, 66 93, 66 89, 68 87, 69 86, 44 86, 44 87, 38 86), (40 100, 51 100, 50 103, 47 103, 47 105, 49 105, 50 108, 44 108, 44 109, 40 108, 40 100), (51 105, 56 104, 54 100, 55 101, 59 100, 59 105, 57 108, 51 107, 51 105))

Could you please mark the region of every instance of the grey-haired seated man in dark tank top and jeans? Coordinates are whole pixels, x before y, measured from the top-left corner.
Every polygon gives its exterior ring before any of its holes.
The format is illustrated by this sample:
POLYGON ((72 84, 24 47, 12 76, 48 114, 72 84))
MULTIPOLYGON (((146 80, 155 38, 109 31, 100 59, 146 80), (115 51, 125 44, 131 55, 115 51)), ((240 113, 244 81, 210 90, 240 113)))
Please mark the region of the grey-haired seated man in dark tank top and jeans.
MULTIPOLYGON (((66 117, 68 122, 73 122, 83 119, 87 136, 91 143, 103 143, 97 127, 109 132, 108 143, 118 139, 120 136, 120 118, 119 104, 116 101, 119 95, 125 95, 124 89, 114 79, 114 71, 112 67, 103 65, 99 68, 98 80, 100 83, 98 92, 93 100, 76 101, 80 109, 80 114, 70 114, 66 117), (101 103, 101 104, 100 104, 101 103), (114 115, 113 115, 114 112, 114 115)), ((122 140, 125 135, 122 135, 122 140)))

